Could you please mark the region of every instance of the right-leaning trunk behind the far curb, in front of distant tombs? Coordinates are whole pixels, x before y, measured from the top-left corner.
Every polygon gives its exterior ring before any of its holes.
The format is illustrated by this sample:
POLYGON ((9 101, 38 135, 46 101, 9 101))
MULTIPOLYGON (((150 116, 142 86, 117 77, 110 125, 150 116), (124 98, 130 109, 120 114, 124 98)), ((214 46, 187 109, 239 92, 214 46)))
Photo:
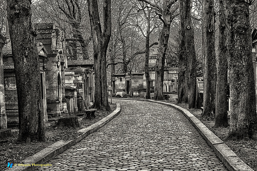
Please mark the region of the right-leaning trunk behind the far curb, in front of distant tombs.
POLYGON ((155 65, 155 86, 154 86, 154 99, 155 100, 164 100, 162 91, 163 91, 163 75, 164 75, 164 64, 165 64, 165 55, 167 50, 167 45, 170 36, 170 27, 171 27, 171 16, 168 15, 166 24, 163 24, 160 40, 159 40, 159 49, 155 65))

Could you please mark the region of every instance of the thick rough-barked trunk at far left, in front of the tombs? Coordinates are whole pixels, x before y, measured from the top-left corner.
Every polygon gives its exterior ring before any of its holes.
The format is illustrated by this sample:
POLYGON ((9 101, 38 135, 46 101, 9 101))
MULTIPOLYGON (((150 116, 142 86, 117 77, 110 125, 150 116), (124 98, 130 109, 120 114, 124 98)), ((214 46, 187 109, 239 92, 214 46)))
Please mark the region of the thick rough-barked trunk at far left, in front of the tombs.
POLYGON ((19 139, 44 141, 39 55, 31 23, 31 1, 7 1, 19 106, 19 139))

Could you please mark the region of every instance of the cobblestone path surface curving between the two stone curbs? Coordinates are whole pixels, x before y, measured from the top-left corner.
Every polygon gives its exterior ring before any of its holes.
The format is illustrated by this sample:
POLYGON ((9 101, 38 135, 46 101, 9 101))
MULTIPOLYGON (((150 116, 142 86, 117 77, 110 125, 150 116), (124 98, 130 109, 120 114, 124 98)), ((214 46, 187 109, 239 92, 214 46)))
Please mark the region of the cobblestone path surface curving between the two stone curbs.
POLYGON ((151 102, 120 102, 121 113, 40 170, 227 170, 190 121, 151 102))

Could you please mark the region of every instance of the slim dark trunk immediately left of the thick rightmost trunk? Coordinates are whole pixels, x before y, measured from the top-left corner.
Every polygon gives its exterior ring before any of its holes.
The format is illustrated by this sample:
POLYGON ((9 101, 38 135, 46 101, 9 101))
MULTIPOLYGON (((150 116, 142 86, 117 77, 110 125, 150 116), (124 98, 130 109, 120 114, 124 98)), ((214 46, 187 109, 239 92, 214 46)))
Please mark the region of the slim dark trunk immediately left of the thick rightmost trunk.
POLYGON ((228 126, 228 62, 226 47, 226 23, 223 0, 219 0, 219 37, 217 57, 217 86, 214 127, 228 126))

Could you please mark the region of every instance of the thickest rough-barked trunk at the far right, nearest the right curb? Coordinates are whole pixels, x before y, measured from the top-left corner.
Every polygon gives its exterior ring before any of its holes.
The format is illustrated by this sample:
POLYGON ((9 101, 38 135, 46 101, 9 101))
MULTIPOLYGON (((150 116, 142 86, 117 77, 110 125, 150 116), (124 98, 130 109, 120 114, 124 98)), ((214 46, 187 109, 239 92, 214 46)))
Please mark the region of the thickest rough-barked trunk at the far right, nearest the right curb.
POLYGON ((256 131, 256 103, 249 4, 225 1, 228 24, 228 75, 230 84, 230 131, 228 138, 252 138, 256 131))

